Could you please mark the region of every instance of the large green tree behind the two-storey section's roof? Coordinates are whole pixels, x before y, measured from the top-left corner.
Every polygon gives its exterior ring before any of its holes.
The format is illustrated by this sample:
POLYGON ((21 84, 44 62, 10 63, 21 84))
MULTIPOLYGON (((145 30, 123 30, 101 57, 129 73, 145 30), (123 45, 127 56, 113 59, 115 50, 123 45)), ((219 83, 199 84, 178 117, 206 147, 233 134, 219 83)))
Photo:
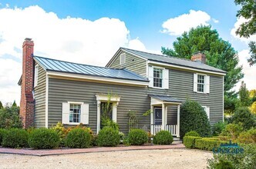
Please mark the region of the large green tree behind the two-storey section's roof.
POLYGON ((184 32, 177 38, 177 41, 173 42, 173 50, 162 47, 162 53, 165 55, 187 59, 190 59, 197 51, 204 52, 207 65, 227 71, 224 77, 224 91, 227 98, 231 98, 234 95, 231 89, 244 77, 244 74, 242 67, 238 66, 237 51, 228 41, 220 38, 211 26, 199 26, 184 32))

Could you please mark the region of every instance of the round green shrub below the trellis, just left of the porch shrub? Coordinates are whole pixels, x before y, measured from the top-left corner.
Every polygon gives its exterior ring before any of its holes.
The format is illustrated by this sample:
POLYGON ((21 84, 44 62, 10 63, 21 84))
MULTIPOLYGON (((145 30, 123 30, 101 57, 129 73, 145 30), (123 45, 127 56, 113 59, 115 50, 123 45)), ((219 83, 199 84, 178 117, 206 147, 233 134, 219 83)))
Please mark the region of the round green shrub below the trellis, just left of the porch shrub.
POLYGON ((128 141, 132 145, 146 144, 147 139, 147 132, 142 129, 133 129, 128 134, 128 141))

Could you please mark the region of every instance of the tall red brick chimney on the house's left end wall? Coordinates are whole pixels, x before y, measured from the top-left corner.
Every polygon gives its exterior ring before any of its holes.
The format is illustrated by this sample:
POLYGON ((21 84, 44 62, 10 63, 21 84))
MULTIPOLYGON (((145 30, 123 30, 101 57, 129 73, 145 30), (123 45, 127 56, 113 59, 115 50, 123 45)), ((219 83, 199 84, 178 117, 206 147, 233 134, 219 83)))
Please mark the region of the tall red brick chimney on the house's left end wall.
POLYGON ((25 38, 22 45, 22 94, 20 102, 20 112, 24 128, 33 126, 34 123, 34 99, 32 95, 34 87, 34 41, 32 38, 25 38))

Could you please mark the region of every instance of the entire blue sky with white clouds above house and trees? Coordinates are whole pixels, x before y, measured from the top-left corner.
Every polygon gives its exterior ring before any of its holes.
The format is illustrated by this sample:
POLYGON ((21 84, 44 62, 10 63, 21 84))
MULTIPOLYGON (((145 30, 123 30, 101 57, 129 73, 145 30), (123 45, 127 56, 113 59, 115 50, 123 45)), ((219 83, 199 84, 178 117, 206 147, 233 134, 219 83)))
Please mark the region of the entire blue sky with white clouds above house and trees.
POLYGON ((0 101, 19 102, 26 37, 35 41, 35 55, 104 66, 120 46, 160 53, 197 25, 212 25, 231 42, 244 65, 243 80, 256 88, 255 66, 246 62, 250 39, 234 35, 239 8, 232 0, 0 1, 0 101))

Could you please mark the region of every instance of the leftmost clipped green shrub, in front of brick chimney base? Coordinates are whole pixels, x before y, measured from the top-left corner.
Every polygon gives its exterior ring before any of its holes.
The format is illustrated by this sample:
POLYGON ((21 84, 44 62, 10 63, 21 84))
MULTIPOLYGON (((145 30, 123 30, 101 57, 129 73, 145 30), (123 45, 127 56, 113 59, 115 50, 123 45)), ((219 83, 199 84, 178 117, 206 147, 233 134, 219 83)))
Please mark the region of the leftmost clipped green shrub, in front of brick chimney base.
POLYGON ((3 147, 27 147, 29 134, 24 129, 11 128, 4 132, 3 147))

